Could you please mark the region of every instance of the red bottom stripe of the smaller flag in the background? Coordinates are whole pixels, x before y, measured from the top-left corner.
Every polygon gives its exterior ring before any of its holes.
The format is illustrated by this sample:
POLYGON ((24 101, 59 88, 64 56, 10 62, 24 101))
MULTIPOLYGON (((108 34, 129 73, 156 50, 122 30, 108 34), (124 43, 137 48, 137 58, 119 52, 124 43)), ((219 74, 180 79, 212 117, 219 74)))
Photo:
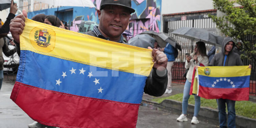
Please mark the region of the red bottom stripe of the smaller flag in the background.
POLYGON ((198 96, 205 99, 249 100, 249 88, 208 88, 199 85, 198 96))

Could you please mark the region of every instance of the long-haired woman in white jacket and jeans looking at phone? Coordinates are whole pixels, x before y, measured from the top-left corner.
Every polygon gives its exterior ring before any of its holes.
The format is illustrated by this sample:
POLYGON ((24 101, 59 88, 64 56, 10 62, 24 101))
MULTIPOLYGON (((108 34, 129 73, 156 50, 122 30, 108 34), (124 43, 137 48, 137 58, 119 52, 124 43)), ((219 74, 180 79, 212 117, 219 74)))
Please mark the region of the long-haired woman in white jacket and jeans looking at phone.
MULTIPOLYGON (((206 54, 206 47, 204 42, 196 42, 194 52, 191 53, 190 55, 186 55, 186 63, 185 63, 185 68, 188 69, 187 75, 186 75, 186 83, 184 86, 183 90, 183 100, 182 100, 182 114, 180 115, 179 118, 177 118, 177 121, 179 122, 184 122, 187 121, 187 106, 188 106, 188 99, 190 97, 189 91, 190 91, 190 85, 192 81, 192 75, 193 75, 193 70, 195 66, 203 65, 203 66, 208 66, 209 61, 208 57, 206 54)), ((194 116, 191 120, 191 124, 198 124, 199 121, 197 119, 197 115, 200 109, 200 97, 197 95, 194 95, 195 97, 195 109, 194 109, 194 116)))

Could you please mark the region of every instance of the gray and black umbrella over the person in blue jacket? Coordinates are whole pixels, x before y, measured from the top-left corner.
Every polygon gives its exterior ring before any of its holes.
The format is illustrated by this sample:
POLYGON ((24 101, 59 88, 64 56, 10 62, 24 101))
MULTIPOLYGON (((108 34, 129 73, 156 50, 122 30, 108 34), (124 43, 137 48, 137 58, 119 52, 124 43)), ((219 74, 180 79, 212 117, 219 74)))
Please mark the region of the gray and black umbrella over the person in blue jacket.
POLYGON ((151 35, 153 38, 156 39, 158 45, 160 47, 165 47, 166 43, 171 44, 173 47, 179 49, 181 51, 181 45, 178 44, 172 37, 170 37, 170 35, 168 35, 167 33, 164 32, 155 32, 155 31, 144 31, 140 34, 149 34, 151 35))

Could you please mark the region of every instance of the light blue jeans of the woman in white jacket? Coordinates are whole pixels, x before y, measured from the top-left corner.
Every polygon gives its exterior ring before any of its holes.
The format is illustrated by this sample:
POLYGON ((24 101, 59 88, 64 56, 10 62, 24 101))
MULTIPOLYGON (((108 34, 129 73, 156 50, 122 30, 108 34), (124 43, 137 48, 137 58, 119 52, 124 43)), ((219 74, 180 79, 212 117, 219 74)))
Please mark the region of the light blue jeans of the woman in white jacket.
MULTIPOLYGON (((190 85, 191 85, 191 83, 188 80, 186 80, 184 90, 183 90, 183 100, 182 100, 182 113, 185 115, 187 114, 188 99, 190 97, 190 95, 189 95, 190 85)), ((200 97, 197 95, 194 95, 194 97, 195 97, 194 116, 197 117, 198 112, 200 110, 201 100, 200 100, 200 97)))

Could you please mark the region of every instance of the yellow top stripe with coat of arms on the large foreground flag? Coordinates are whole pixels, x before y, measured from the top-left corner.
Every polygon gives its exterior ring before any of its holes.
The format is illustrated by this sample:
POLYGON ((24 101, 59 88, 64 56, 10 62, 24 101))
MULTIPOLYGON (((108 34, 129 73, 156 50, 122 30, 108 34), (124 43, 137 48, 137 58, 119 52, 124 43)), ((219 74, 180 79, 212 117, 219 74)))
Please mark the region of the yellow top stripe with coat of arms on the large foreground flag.
MULTIPOLYGON (((106 69, 148 76, 152 50, 103 40, 26 19, 20 49, 106 69)), ((46 60, 47 61, 47 60, 46 60)))

